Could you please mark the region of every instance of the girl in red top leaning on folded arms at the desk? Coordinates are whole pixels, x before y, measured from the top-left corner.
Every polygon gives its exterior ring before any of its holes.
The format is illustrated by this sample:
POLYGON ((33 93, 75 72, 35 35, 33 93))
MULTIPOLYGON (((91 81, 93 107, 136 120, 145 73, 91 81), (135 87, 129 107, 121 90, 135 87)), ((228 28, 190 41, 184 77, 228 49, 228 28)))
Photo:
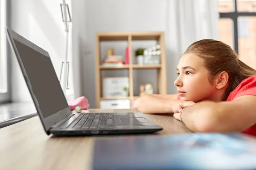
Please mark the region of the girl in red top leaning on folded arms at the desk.
POLYGON ((223 42, 194 42, 177 66, 178 94, 144 95, 143 113, 174 113, 194 132, 243 132, 256 136, 256 70, 223 42))

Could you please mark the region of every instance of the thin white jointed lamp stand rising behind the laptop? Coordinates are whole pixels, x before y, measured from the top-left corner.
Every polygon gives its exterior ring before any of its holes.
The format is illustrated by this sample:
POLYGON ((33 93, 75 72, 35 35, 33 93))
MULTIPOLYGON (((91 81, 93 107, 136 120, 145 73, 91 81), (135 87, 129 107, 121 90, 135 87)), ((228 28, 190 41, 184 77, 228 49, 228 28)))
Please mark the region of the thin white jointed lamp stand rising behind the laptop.
MULTIPOLYGON (((66 90, 67 90, 67 82, 68 82, 68 67, 69 63, 67 62, 67 55, 68 55, 68 32, 69 32, 69 22, 71 21, 70 11, 68 4, 66 4, 66 0, 63 0, 63 3, 61 5, 61 15, 62 15, 62 21, 65 23, 65 31, 66 31, 66 48, 65 48, 65 60, 62 62, 62 66, 64 64, 64 81, 63 81, 63 92, 66 96, 66 90), (68 15, 67 15, 68 14, 68 15), (68 20, 69 18, 69 20, 68 20)), ((62 72, 62 66, 61 66, 61 72, 62 72)), ((60 76, 61 80, 61 76, 60 76)))

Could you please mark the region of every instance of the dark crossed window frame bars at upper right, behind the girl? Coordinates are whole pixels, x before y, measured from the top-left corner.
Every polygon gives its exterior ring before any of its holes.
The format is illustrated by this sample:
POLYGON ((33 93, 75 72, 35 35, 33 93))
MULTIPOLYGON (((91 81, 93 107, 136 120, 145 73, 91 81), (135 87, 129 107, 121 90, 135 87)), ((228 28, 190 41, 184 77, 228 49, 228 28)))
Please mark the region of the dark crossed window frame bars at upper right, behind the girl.
POLYGON ((234 11, 233 12, 219 12, 221 18, 230 18, 233 20, 233 43, 234 50, 239 54, 238 51, 238 17, 256 17, 256 12, 239 12, 237 11, 237 0, 233 0, 234 11))

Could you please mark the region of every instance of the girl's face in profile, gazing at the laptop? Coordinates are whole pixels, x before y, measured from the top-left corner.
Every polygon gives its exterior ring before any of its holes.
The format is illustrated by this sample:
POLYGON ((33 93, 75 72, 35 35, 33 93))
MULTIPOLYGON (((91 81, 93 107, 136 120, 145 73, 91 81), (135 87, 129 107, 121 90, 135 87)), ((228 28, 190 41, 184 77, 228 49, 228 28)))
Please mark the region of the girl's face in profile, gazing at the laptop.
POLYGON ((209 82, 208 73, 203 59, 194 54, 184 54, 178 63, 178 77, 174 82, 180 100, 193 102, 216 100, 218 89, 209 82))

